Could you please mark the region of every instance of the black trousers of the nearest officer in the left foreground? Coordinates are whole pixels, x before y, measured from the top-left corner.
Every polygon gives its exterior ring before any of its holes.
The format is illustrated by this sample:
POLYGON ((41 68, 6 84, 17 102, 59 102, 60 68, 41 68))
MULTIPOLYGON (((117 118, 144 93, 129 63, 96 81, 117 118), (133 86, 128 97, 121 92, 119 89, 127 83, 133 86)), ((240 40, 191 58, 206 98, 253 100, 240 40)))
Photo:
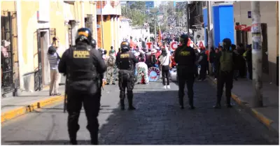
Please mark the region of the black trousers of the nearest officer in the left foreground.
POLYGON ((78 118, 80 110, 85 109, 87 117, 87 130, 90 131, 92 145, 98 144, 98 113, 100 108, 101 89, 97 86, 97 81, 83 80, 75 81, 67 86, 67 112, 68 112, 68 132, 72 144, 76 143, 76 134, 80 129, 78 118))

